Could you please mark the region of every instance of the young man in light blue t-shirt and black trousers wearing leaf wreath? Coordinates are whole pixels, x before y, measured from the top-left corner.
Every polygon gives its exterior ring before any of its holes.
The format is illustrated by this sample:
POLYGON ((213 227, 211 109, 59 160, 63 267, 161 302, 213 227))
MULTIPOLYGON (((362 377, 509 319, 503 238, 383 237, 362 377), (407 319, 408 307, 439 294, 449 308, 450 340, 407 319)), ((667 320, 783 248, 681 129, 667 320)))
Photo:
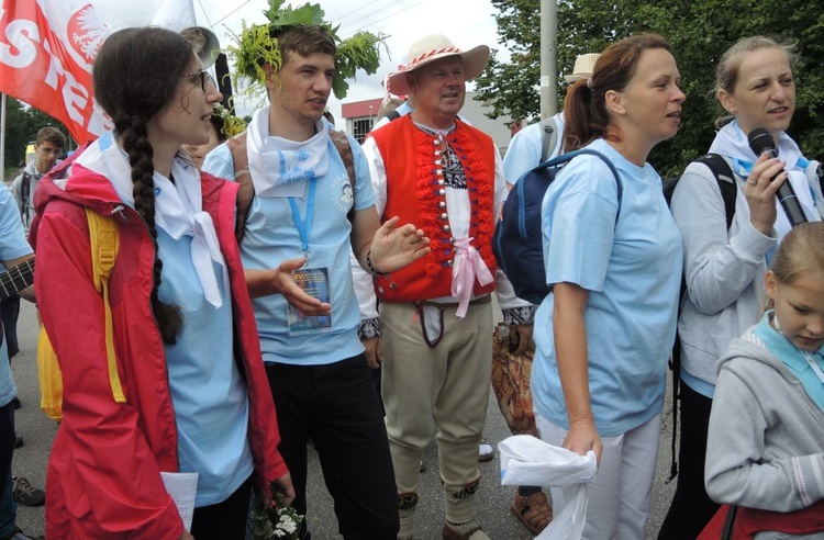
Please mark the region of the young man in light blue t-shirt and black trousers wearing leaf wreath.
MULTIPOLYGON (((265 86, 270 105, 253 114, 246 132, 212 150, 203 169, 255 193, 241 227, 241 256, 294 508, 307 513, 311 438, 343 537, 393 540, 392 462, 357 336, 360 315, 348 261, 354 250, 364 269, 398 270, 428 254, 428 240, 411 224, 396 227, 397 220, 381 226, 359 146, 344 137, 346 150, 338 147, 343 134, 322 117, 343 54, 334 30, 272 20, 268 29, 245 31, 247 70, 240 70, 265 86)), ((310 538, 305 524, 301 539, 310 538)))

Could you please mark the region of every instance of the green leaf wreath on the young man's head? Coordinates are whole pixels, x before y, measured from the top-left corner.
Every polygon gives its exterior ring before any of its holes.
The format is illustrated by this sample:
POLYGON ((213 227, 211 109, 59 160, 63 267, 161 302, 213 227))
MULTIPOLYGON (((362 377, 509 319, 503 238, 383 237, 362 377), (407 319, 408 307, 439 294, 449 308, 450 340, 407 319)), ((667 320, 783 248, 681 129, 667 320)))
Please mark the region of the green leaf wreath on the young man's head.
POLYGON ((380 67, 380 45, 386 36, 361 31, 352 37, 341 40, 337 36, 339 26, 332 26, 323 20, 324 11, 320 4, 305 3, 294 9, 289 5, 282 7, 283 1, 269 0, 269 9, 264 11, 269 24, 247 26, 244 21, 241 35, 234 36, 236 44, 226 46, 234 60, 238 79, 249 83, 247 93, 265 94, 266 72, 263 66, 269 64, 275 70, 280 69, 282 58, 278 49, 278 40, 274 36, 289 26, 318 24, 332 34, 337 45, 335 77, 332 80, 335 98, 346 97, 349 89, 346 79, 354 79, 358 69, 368 75, 377 72, 380 67))

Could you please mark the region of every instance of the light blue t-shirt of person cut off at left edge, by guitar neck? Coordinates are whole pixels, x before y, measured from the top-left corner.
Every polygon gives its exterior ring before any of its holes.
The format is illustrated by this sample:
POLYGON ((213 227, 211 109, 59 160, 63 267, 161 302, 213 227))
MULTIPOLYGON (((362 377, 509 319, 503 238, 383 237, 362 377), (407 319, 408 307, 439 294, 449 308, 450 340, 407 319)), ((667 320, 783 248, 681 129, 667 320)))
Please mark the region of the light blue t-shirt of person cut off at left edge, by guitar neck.
MULTIPOLYGON (((5 184, 0 187, 0 260, 12 260, 32 252, 32 247, 25 240, 23 232, 23 222, 20 220, 20 211, 11 191, 5 184)), ((0 267, 1 268, 1 267, 0 267)), ((2 272, 5 270, 3 269, 2 272)), ((11 367, 9 365, 9 350, 4 337, 0 338, 0 407, 5 406, 18 395, 18 389, 14 386, 14 380, 11 376, 11 367)))

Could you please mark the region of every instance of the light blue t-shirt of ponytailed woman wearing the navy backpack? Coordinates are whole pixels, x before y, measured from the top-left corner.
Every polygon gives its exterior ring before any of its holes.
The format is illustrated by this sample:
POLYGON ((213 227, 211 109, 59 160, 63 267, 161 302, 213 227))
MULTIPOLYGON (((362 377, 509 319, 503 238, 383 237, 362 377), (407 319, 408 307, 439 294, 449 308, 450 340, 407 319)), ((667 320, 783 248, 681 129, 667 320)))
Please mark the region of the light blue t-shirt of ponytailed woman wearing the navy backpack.
MULTIPOLYGON (((649 420, 664 405, 683 254, 653 167, 633 165, 603 139, 588 147, 619 171, 619 222, 617 188, 606 164, 578 157, 544 198, 544 259, 547 283, 576 283, 590 292, 584 324, 592 413, 599 435, 614 437, 649 420)), ((566 429, 553 301, 547 295, 535 315, 531 384, 538 413, 566 429)))

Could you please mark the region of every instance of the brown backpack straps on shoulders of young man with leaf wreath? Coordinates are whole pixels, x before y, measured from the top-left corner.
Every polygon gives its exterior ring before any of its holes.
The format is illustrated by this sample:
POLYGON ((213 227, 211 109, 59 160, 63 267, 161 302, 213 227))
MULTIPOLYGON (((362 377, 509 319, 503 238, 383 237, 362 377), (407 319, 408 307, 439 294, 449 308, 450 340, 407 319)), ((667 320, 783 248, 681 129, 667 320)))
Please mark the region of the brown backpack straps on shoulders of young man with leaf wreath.
MULTIPOLYGON (((240 184, 237 198, 235 199, 237 207, 237 215, 235 217, 235 238, 237 238, 237 244, 241 243, 243 235, 246 232, 246 220, 249 215, 252 201, 255 199, 255 184, 252 182, 249 156, 246 151, 246 136, 247 133, 244 131, 226 140, 226 146, 232 153, 232 161, 234 162, 235 182, 240 184)), ((349 183, 352 184, 353 204, 352 210, 346 215, 349 222, 352 222, 355 218, 355 157, 352 154, 352 146, 349 145, 349 139, 345 133, 337 130, 330 130, 329 136, 330 139, 332 139, 332 144, 335 145, 335 149, 341 155, 344 168, 346 169, 346 175, 349 177, 349 183)))

